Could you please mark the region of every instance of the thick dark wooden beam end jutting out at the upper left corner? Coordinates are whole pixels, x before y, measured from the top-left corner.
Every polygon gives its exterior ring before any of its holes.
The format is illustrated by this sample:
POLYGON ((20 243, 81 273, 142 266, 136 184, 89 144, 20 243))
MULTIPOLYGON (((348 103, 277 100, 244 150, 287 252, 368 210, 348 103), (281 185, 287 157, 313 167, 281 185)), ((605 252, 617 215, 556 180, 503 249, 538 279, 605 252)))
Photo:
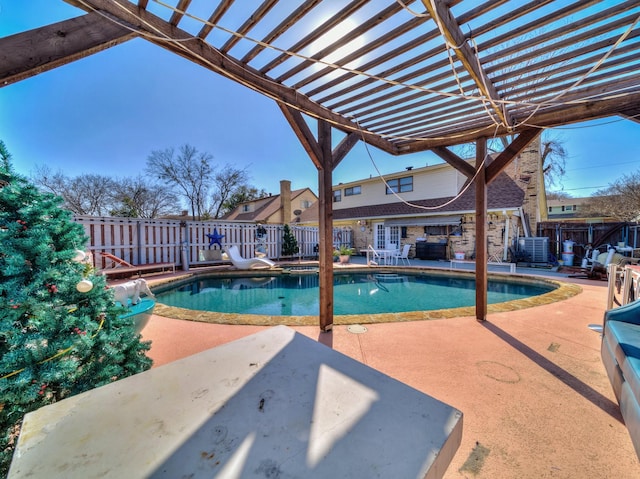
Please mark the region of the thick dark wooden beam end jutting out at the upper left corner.
POLYGON ((89 13, 0 39, 0 87, 38 75, 135 38, 89 13))

